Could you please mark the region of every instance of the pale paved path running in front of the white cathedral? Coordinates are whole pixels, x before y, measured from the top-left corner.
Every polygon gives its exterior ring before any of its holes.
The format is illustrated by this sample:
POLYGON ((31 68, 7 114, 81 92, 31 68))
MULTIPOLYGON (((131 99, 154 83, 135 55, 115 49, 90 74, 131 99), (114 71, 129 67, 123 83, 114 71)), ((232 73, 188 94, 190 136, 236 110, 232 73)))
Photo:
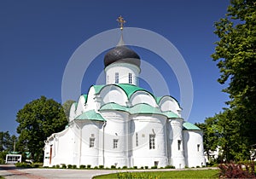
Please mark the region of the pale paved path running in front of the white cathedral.
MULTIPOLYGON (((206 170, 209 168, 195 168, 189 170, 206 170)), ((211 169, 216 169, 212 167, 211 169)), ((166 170, 177 170, 177 169, 165 169, 166 170)), ((186 170, 186 169, 180 169, 186 170)), ((15 165, 0 165, 0 176, 6 179, 90 179, 93 176, 125 172, 125 171, 151 171, 151 170, 69 170, 69 169, 19 169, 15 165)), ((154 170, 157 171, 157 170, 154 170)))

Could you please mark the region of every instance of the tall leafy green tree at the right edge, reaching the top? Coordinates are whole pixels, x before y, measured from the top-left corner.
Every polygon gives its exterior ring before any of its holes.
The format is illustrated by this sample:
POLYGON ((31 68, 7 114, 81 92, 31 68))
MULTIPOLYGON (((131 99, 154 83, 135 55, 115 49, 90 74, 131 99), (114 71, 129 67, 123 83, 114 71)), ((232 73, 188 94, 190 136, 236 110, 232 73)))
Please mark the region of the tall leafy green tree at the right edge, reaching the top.
MULTIPOLYGON (((228 83, 224 92, 230 95, 230 101, 227 101, 230 105, 228 114, 218 115, 218 118, 220 123, 229 120, 230 124, 234 124, 233 130, 240 135, 236 140, 241 140, 240 146, 246 147, 247 151, 256 143, 255 9, 256 3, 253 0, 230 1, 225 17, 215 23, 215 34, 220 39, 212 54, 213 61, 218 61, 221 73, 218 82, 228 83)), ((236 134, 232 132, 230 135, 236 134)), ((228 141, 225 142, 228 144, 228 141)))

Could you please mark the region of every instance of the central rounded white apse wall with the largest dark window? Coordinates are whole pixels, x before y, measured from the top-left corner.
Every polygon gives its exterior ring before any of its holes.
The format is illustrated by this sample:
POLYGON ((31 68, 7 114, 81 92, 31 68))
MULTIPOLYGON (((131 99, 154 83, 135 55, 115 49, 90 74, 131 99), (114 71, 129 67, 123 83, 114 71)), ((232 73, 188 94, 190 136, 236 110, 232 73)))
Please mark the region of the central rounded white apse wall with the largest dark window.
POLYGON ((166 117, 161 115, 135 115, 132 117, 134 133, 132 136, 132 166, 167 164, 166 117), (149 148, 149 135, 154 135, 154 148, 149 148))

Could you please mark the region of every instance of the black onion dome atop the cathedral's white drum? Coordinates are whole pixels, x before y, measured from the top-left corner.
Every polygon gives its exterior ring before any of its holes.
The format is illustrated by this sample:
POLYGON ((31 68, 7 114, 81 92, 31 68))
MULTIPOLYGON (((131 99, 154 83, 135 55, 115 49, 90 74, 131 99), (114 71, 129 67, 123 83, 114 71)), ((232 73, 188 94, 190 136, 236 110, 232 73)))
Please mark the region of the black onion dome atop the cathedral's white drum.
POLYGON ((125 62, 140 67, 140 56, 125 45, 116 46, 114 49, 108 51, 104 57, 105 67, 115 62, 125 62))

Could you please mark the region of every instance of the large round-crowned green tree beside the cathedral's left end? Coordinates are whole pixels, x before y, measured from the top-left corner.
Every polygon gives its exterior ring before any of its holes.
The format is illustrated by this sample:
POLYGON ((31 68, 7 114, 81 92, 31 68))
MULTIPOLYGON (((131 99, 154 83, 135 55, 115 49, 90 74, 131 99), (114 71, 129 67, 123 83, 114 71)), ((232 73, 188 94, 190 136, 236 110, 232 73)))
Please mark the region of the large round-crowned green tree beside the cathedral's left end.
POLYGON ((43 161, 44 141, 48 136, 63 130, 67 119, 61 104, 41 96, 31 101, 17 113, 17 133, 22 152, 30 152, 32 159, 43 161))

